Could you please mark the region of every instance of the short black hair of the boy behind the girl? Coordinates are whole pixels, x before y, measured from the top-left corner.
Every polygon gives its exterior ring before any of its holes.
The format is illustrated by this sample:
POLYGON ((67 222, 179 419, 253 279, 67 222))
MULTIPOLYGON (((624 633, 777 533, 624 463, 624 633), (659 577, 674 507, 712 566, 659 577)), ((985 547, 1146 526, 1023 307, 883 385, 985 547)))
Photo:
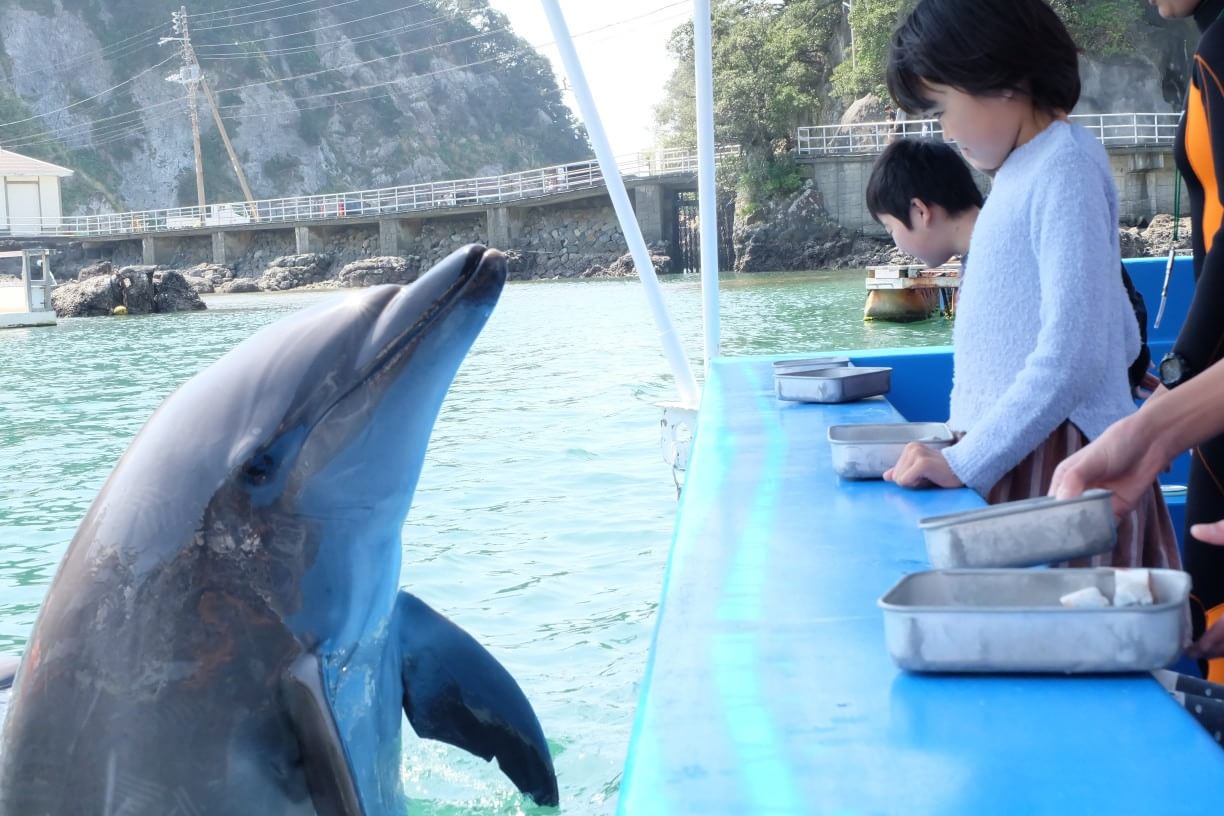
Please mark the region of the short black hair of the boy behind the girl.
POLYGON ((871 168, 867 209, 875 220, 891 215, 913 229, 909 202, 914 198, 939 204, 949 215, 982 207, 982 191, 960 153, 944 142, 903 138, 890 144, 871 168))

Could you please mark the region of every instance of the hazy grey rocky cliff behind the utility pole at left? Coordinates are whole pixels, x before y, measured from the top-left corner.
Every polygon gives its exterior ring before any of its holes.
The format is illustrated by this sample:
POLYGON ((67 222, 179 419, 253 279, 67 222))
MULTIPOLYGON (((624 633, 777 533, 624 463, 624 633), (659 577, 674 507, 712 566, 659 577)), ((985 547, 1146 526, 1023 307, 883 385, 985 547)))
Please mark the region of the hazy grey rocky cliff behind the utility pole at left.
MULTIPOLYGON (((70 213, 196 203, 162 0, 0 0, 0 146, 77 171, 70 213)), ((256 197, 497 174, 589 155, 547 60, 485 0, 187 4, 256 197), (326 7, 319 7, 326 6, 326 7)), ((200 102, 209 201, 241 198, 200 102)))

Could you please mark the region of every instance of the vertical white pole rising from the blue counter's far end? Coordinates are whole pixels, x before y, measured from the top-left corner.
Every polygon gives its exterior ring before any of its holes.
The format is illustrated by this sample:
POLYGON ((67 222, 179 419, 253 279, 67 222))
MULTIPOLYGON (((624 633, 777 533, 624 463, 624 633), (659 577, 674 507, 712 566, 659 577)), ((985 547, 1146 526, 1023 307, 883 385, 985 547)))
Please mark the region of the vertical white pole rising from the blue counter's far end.
POLYGON ((718 356, 718 198, 714 179, 714 56, 710 0, 693 0, 693 56, 696 70, 696 192, 701 224, 701 318, 705 369, 718 356))

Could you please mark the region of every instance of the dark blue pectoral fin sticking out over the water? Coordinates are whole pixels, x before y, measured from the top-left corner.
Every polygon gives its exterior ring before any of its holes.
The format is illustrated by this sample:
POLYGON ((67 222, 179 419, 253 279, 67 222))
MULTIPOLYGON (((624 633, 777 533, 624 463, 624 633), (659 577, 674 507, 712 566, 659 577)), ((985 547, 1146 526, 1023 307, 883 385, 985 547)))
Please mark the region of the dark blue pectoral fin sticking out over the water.
POLYGON ((558 804, 557 773, 540 721, 510 673, 471 635, 408 592, 395 625, 404 712, 422 738, 497 757, 502 773, 539 805, 558 804))

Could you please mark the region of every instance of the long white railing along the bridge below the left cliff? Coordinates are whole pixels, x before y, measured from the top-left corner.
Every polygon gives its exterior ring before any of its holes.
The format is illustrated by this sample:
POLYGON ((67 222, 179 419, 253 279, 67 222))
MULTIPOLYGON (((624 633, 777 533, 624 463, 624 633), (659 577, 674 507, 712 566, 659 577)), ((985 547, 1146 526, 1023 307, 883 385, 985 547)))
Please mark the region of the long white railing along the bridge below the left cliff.
MULTIPOLYGON (((737 146, 720 147, 717 159, 721 161, 738 153, 737 146)), ((688 148, 636 153, 619 159, 618 165, 627 179, 696 172, 696 153, 688 148)), ((599 163, 590 159, 499 176, 427 181, 381 190, 266 198, 255 202, 228 202, 204 208, 173 207, 130 213, 65 215, 59 219, 12 218, 9 229, 0 230, 0 234, 105 237, 261 224, 311 224, 420 210, 488 207, 601 186, 603 186, 603 174, 599 163)))

